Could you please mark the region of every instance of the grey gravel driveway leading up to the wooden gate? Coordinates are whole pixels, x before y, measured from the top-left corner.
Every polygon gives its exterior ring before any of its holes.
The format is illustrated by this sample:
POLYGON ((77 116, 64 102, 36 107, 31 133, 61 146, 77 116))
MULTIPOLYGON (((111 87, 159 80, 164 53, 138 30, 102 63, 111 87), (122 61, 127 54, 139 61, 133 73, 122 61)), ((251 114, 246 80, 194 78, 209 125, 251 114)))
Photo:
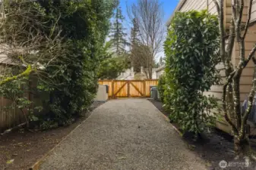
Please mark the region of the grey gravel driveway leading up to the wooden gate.
POLYGON ((109 100, 93 110, 40 169, 207 169, 146 99, 109 100))

